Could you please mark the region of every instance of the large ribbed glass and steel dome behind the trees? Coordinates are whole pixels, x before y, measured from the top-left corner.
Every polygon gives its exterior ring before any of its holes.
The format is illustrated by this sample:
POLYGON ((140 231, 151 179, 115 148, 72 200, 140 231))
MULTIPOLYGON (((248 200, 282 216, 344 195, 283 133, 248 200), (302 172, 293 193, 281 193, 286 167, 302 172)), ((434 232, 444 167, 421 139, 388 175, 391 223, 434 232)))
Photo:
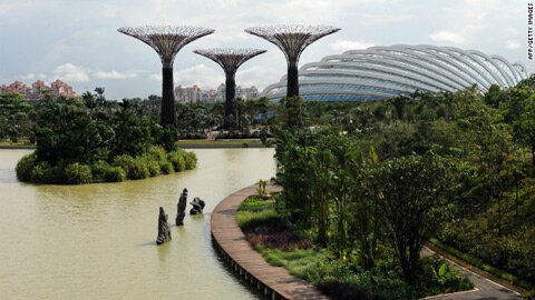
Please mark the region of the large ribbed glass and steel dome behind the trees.
MULTIPOLYGON (((492 84, 508 88, 527 77, 522 63, 499 56, 454 47, 398 44, 350 50, 307 63, 299 71, 299 86, 308 101, 371 101, 415 91, 457 91, 473 84, 485 92, 492 84)), ((262 96, 280 99, 285 93, 284 76, 262 96)))

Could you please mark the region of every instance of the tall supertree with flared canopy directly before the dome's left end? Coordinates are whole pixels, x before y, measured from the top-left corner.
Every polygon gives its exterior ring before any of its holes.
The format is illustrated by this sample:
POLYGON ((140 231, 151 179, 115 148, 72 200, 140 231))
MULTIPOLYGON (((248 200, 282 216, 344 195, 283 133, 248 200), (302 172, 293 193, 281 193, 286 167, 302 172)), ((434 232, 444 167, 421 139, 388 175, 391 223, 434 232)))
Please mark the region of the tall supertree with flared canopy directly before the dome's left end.
POLYGON ((299 96, 298 63, 303 50, 320 38, 339 31, 330 26, 280 24, 251 27, 245 32, 263 38, 279 47, 288 61, 286 97, 299 96))

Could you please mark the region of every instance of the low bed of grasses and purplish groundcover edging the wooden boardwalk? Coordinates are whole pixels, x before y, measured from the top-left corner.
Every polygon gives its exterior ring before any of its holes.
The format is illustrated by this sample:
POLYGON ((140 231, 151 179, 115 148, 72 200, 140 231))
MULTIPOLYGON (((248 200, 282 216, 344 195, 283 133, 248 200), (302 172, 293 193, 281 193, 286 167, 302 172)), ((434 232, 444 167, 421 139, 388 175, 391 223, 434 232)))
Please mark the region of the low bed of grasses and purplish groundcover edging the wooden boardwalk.
POLYGON ((408 299, 470 289, 473 284, 459 271, 436 256, 420 261, 418 287, 399 278, 399 267, 391 259, 376 268, 341 262, 329 249, 314 248, 303 232, 292 230, 276 210, 273 200, 250 197, 240 206, 236 221, 246 239, 272 266, 318 286, 332 299, 408 299))

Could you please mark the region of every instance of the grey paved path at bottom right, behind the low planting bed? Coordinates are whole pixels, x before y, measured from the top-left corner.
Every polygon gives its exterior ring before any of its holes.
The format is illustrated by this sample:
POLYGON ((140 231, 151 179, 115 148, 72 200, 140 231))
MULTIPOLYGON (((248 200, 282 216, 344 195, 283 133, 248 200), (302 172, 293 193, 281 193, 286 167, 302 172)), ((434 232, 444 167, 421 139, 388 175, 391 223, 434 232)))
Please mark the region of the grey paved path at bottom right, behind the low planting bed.
MULTIPOLYGON (((424 248, 422 254, 430 256, 434 252, 428 248, 424 248)), ((519 293, 512 291, 494 281, 490 281, 475 272, 460 267, 459 264, 448 260, 450 264, 459 269, 476 287, 470 291, 461 291, 449 294, 438 294, 427 297, 429 300, 521 300, 519 293)))

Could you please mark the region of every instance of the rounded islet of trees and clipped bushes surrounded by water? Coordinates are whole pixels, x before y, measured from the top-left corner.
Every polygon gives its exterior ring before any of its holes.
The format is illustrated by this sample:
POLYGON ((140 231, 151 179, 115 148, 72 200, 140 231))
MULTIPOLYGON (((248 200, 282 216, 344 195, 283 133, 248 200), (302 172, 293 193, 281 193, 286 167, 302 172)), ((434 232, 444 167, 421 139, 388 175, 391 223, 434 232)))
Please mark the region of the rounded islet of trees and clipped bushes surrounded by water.
POLYGON ((107 101, 103 92, 37 104, 36 151, 17 164, 20 180, 78 184, 195 168, 195 154, 176 148, 173 130, 160 128, 138 103, 107 101))

